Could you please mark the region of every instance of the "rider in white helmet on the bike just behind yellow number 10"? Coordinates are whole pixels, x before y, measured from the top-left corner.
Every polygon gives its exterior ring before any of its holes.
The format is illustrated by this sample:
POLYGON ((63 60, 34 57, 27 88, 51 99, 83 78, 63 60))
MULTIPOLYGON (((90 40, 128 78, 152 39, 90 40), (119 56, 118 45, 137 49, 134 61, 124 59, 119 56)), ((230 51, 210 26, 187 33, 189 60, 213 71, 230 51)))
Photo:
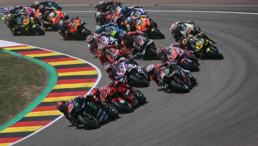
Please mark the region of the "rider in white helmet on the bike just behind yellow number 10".
MULTIPOLYGON (((188 23, 188 24, 194 24, 193 21, 186 21, 186 22, 177 22, 171 25, 170 27, 170 31, 172 33, 172 37, 175 39, 175 41, 177 43, 180 43, 182 39, 185 38, 185 36, 183 36, 180 32, 180 29, 182 29, 182 26, 184 23, 188 23)), ((210 38, 207 37, 207 35, 205 35, 203 32, 201 32, 201 28, 200 27, 196 27, 196 31, 194 32, 195 36, 200 36, 202 38, 208 39, 211 42, 213 42, 214 44, 216 43, 216 41, 211 40, 210 38)))

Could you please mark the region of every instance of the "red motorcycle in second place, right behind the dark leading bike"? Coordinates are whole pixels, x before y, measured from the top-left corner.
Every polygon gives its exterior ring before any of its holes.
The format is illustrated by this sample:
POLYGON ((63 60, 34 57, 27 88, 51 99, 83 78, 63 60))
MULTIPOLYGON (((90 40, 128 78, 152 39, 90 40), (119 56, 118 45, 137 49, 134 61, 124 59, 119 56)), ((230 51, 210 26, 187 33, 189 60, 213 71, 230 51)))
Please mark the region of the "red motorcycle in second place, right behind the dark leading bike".
POLYGON ((109 99, 102 97, 101 100, 111 103, 111 105, 115 106, 121 112, 130 113, 133 110, 133 106, 146 102, 146 97, 140 91, 132 94, 129 89, 123 87, 115 88, 107 86, 107 94, 109 99))

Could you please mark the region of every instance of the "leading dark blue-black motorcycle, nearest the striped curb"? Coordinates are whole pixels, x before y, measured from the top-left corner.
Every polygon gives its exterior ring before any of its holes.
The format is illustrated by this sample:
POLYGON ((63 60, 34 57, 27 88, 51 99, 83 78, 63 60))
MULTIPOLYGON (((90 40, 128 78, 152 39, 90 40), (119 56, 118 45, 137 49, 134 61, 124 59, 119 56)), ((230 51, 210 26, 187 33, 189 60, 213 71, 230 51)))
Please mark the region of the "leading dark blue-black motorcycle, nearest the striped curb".
POLYGON ((92 101, 77 99, 75 102, 68 105, 68 115, 79 120, 81 124, 96 129, 108 118, 116 119, 118 111, 115 107, 107 104, 108 110, 103 110, 100 105, 92 101))

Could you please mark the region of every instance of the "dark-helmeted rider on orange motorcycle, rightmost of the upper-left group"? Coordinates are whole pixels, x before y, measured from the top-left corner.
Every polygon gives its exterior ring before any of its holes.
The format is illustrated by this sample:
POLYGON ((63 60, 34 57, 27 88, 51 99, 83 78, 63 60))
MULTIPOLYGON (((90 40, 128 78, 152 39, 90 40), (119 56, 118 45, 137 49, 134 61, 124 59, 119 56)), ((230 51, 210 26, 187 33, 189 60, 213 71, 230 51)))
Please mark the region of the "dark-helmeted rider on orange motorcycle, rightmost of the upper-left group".
MULTIPOLYGON (((57 30, 58 30, 59 34, 60 34, 61 36, 63 36, 64 40, 67 40, 67 39, 70 38, 71 35, 72 35, 71 32, 70 32, 70 29, 72 29, 72 27, 67 25, 67 24, 69 24, 69 23, 73 23, 73 20, 72 20, 72 19, 78 20, 79 18, 78 18, 78 17, 76 17, 76 18, 70 18, 70 19, 68 19, 68 20, 62 19, 62 20, 60 20, 60 21, 57 23, 57 30), (65 31, 66 31, 66 33, 65 33, 65 31)), ((76 32, 75 32, 75 33, 76 33, 76 32)), ((76 34, 74 34, 74 35, 76 35, 76 34)))

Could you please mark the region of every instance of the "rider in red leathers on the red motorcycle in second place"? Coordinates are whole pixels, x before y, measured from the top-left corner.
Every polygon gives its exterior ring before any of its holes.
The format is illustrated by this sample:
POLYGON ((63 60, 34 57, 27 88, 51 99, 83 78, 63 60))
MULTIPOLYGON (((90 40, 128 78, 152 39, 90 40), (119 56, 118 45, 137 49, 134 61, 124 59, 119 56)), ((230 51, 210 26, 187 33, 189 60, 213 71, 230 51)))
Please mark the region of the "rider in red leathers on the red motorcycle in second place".
POLYGON ((117 80, 117 81, 112 81, 110 83, 108 83, 108 85, 104 85, 103 87, 101 87, 100 89, 100 95, 102 98, 104 98, 106 101, 110 101, 112 99, 112 97, 109 97, 108 95, 108 86, 109 87, 114 87, 117 89, 117 92, 121 93, 122 95, 124 95, 124 91, 120 90, 120 88, 126 88, 129 89, 133 96, 142 96, 141 94, 139 94, 139 91, 137 89, 131 88, 128 84, 124 83, 121 80, 117 80))

